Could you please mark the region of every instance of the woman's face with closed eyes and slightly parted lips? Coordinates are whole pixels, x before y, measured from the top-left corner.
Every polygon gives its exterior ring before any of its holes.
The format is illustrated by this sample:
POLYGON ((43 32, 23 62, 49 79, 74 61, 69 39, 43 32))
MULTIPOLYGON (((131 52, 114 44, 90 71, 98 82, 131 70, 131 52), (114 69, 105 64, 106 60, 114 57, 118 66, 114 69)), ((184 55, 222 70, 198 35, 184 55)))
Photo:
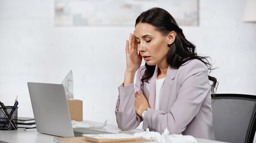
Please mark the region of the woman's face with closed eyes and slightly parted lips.
POLYGON ((168 35, 162 35, 151 24, 138 23, 135 26, 134 36, 138 42, 138 51, 149 66, 167 64, 168 42, 170 42, 168 35))

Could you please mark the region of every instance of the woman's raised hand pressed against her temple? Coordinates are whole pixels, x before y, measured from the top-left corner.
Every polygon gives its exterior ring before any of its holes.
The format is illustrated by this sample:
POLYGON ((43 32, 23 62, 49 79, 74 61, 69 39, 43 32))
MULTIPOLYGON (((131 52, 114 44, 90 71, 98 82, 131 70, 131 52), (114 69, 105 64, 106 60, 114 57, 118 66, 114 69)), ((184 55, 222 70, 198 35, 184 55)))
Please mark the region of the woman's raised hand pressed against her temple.
POLYGON ((134 34, 129 35, 129 41, 127 41, 125 52, 127 57, 127 69, 125 70, 124 86, 128 86, 133 82, 135 73, 138 68, 140 68, 142 61, 142 57, 137 50, 137 41, 134 38, 134 34))

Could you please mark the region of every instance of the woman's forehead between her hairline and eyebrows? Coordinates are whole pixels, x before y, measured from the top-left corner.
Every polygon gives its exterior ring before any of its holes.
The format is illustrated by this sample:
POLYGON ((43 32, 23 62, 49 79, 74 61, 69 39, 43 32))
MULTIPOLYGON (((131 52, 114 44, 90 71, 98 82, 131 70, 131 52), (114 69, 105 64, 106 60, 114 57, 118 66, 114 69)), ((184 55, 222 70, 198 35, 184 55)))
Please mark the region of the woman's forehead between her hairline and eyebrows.
POLYGON ((148 23, 138 23, 135 26, 135 36, 140 38, 143 35, 161 35, 160 32, 158 32, 155 29, 155 26, 152 26, 151 24, 148 23))

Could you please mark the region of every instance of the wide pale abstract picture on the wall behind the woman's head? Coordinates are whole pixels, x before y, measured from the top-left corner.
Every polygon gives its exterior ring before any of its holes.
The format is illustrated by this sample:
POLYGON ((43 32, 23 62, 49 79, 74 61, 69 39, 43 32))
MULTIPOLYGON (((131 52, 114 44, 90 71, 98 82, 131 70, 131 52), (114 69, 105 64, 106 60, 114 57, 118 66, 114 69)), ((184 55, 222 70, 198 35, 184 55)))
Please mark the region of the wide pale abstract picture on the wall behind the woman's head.
POLYGON ((140 13, 167 10, 179 25, 198 25, 198 0, 55 0, 55 26, 134 26, 140 13))

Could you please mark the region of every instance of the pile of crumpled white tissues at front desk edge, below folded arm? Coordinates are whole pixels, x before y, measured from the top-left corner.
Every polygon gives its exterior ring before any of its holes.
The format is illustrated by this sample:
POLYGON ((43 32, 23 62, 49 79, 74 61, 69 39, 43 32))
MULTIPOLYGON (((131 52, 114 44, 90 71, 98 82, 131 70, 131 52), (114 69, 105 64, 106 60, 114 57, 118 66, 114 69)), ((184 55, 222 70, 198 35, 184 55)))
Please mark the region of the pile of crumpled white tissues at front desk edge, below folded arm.
POLYGON ((159 132, 150 132, 149 129, 146 129, 146 131, 144 132, 134 133, 134 136, 153 140, 157 143, 197 143, 197 139, 195 139, 191 135, 169 135, 169 131, 167 128, 164 130, 162 135, 159 132))

